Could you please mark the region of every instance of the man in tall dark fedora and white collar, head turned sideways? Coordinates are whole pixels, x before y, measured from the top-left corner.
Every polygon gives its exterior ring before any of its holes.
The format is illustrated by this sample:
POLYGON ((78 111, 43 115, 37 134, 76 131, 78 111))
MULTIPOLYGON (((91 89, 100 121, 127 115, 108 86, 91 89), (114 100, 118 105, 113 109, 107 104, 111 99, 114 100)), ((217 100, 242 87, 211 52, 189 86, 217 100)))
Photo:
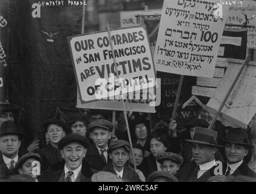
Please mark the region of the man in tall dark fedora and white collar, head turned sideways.
POLYGON ((180 182, 206 182, 215 175, 217 167, 215 153, 217 147, 221 147, 217 144, 217 132, 195 127, 193 138, 186 141, 190 142, 193 159, 181 167, 177 178, 180 182))

